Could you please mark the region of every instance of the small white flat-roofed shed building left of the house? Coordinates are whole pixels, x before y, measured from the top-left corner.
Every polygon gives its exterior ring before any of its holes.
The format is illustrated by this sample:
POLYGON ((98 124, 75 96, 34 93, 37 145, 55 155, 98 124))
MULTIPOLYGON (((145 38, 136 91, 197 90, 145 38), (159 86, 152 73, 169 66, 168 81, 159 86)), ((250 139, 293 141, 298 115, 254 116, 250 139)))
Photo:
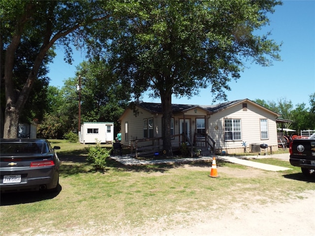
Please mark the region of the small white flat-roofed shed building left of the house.
POLYGON ((114 141, 114 122, 84 122, 81 125, 81 144, 114 141))

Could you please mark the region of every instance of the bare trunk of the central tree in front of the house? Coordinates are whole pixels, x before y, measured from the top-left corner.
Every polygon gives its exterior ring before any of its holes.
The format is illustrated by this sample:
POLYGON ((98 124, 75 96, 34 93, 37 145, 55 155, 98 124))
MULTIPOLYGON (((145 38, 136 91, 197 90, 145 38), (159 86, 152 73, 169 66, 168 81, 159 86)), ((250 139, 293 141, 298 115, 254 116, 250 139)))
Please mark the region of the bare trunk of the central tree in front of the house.
POLYGON ((172 94, 161 94, 162 103, 162 137, 163 151, 166 156, 173 156, 171 142, 171 119, 172 119, 172 94))

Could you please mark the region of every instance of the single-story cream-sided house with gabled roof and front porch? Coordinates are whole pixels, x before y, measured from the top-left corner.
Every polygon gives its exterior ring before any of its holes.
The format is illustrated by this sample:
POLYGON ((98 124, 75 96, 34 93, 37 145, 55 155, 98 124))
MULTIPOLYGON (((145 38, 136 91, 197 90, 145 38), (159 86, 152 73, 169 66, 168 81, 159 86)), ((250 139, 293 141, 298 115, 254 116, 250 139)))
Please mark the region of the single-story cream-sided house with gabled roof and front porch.
MULTIPOLYGON (((235 100, 216 105, 172 104, 172 146, 181 144, 180 134, 194 146, 203 146, 214 153, 243 153, 278 150, 277 118, 280 115, 249 100, 235 100), (185 125, 184 125, 185 124, 185 125), (266 150, 266 148, 264 148, 266 150)), ((137 103, 119 118, 121 143, 161 137, 162 110, 160 103, 137 103)), ((138 145, 141 145, 138 143, 138 145)), ((158 142, 161 146, 162 142, 158 142)))

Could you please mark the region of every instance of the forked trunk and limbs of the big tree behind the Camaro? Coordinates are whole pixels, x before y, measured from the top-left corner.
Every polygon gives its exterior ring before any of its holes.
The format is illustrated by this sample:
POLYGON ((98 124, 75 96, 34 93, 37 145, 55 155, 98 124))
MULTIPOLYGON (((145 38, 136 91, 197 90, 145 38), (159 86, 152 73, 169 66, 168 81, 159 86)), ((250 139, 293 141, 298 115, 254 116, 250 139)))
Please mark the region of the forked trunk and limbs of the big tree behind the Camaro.
MULTIPOLYGON (((14 89, 14 85, 13 85, 14 57, 15 57, 15 52, 21 40, 21 36, 24 33, 24 30, 25 30, 24 27, 26 23, 31 21, 32 17, 34 17, 33 14, 35 12, 32 11, 32 9, 36 5, 36 2, 30 1, 25 6, 25 11, 23 15, 20 17, 20 20, 17 21, 16 23, 17 30, 14 32, 14 35, 12 36, 12 41, 6 48, 5 61, 4 61, 4 84, 5 84, 6 107, 5 107, 5 113, 4 113, 3 138, 16 138, 17 137, 19 115, 21 111, 23 110, 24 105, 29 97, 30 91, 32 89, 32 85, 34 81, 37 79, 37 73, 40 68, 40 64, 45 58, 47 51, 53 46, 56 40, 82 27, 85 22, 84 18, 82 21, 80 19, 78 20, 78 22, 74 22, 74 25, 72 24, 69 25, 68 29, 64 29, 64 30, 55 29, 56 32, 53 33, 53 30, 54 30, 53 22, 56 21, 54 9, 56 5, 58 4, 58 2, 55 1, 53 3, 54 4, 50 4, 46 12, 47 21, 46 21, 46 28, 45 30, 43 30, 43 44, 34 60, 34 63, 29 73, 29 76, 27 78, 27 81, 24 84, 24 87, 18 97, 16 95, 16 89, 14 89), (53 34, 54 36, 51 38, 53 34)), ((62 16, 62 18, 63 17, 66 17, 66 16, 64 15, 62 16)), ((103 17, 91 19, 90 23, 92 24, 94 22, 99 22, 109 17, 110 15, 108 14, 103 17)), ((62 22, 62 23, 66 24, 65 22, 62 22)), ((27 30, 36 29, 36 26, 32 26, 32 27, 30 27, 27 30)), ((2 44, 1 44, 1 47, 2 47, 2 44)))

